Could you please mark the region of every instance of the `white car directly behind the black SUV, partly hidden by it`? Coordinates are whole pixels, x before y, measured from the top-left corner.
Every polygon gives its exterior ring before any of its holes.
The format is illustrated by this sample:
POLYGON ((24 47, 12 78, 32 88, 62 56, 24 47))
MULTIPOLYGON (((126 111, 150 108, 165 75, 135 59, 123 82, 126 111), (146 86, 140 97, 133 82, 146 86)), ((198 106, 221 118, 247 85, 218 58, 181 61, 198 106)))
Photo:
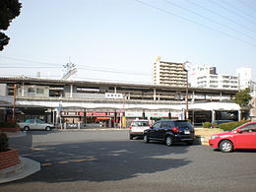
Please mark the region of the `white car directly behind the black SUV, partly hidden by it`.
POLYGON ((149 128, 150 123, 148 120, 140 119, 132 121, 129 130, 130 140, 132 140, 133 137, 143 137, 144 130, 149 128))

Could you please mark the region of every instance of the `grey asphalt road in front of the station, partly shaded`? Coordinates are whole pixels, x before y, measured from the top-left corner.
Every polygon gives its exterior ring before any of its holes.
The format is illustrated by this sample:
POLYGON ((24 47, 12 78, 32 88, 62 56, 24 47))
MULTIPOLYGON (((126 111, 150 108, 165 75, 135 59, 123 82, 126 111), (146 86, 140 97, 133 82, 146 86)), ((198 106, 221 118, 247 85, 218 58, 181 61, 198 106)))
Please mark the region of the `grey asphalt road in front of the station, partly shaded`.
POLYGON ((127 130, 32 131, 10 139, 41 163, 0 191, 256 191, 256 151, 145 144, 127 130))

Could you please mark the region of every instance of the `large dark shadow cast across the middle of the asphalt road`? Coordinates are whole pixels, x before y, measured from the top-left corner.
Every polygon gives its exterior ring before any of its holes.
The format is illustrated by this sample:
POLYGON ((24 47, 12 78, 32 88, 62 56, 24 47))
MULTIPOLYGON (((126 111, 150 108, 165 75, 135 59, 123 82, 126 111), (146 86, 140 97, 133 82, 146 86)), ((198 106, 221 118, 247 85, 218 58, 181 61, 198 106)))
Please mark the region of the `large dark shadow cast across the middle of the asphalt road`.
POLYGON ((191 162, 171 156, 185 154, 189 149, 187 146, 169 148, 160 144, 145 144, 140 140, 88 141, 32 147, 32 135, 28 135, 14 147, 17 145, 23 157, 41 163, 41 170, 15 182, 115 181, 165 171, 191 162))

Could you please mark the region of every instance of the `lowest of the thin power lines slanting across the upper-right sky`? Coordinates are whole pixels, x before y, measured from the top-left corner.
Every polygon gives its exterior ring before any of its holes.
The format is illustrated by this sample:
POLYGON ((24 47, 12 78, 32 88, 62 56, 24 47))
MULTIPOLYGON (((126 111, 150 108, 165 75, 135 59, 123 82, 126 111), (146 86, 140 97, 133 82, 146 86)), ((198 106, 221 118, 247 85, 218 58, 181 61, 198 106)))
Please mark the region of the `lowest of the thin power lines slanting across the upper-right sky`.
POLYGON ((228 37, 230 37, 230 38, 236 39, 236 40, 241 41, 241 42, 243 42, 243 43, 245 43, 245 44, 248 44, 248 45, 251 45, 251 46, 254 46, 254 47, 256 46, 256 44, 254 44, 254 43, 248 42, 248 41, 243 40, 243 39, 241 39, 241 38, 238 38, 238 37, 236 37, 236 36, 234 36, 234 35, 230 35, 230 34, 228 34, 228 33, 226 33, 226 32, 218 31, 218 30, 216 30, 216 29, 214 29, 214 28, 212 28, 212 27, 209 27, 209 26, 200 24, 200 23, 195 22, 195 21, 193 21, 193 20, 187 19, 187 18, 185 18, 185 17, 183 17, 183 16, 180 16, 180 15, 177 15, 177 14, 173 14, 173 13, 171 13, 171 12, 169 12, 169 11, 166 11, 166 10, 164 10, 164 9, 161 9, 161 8, 159 8, 159 7, 156 7, 156 6, 154 6, 154 5, 151 5, 151 4, 149 4, 149 3, 145 3, 145 2, 143 2, 143 1, 141 1, 141 0, 134 0, 134 1, 136 1, 136 2, 138 2, 138 3, 140 3, 140 4, 143 4, 143 5, 145 5, 145 6, 151 7, 151 8, 153 8, 153 9, 156 9, 156 10, 162 12, 162 13, 165 13, 165 14, 168 14, 168 15, 172 15, 172 16, 174 16, 174 17, 180 18, 180 19, 182 19, 182 20, 184 20, 184 21, 187 21, 187 22, 189 22, 189 23, 192 23, 192 24, 196 24, 196 25, 198 25, 198 26, 200 26, 200 27, 206 28, 206 29, 211 30, 211 31, 213 31, 213 32, 222 33, 222 34, 224 34, 225 36, 228 36, 228 37))

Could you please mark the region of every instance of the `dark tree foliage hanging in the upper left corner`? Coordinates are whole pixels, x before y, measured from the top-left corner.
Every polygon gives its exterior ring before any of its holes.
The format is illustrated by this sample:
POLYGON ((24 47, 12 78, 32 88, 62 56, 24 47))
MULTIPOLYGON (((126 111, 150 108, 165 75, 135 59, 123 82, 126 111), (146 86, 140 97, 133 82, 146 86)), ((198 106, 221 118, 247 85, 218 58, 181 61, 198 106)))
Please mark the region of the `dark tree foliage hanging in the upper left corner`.
MULTIPOLYGON (((13 19, 21 13, 19 0, 0 0, 0 31, 6 31, 13 19)), ((9 43, 9 36, 0 32, 0 51, 9 43)))

